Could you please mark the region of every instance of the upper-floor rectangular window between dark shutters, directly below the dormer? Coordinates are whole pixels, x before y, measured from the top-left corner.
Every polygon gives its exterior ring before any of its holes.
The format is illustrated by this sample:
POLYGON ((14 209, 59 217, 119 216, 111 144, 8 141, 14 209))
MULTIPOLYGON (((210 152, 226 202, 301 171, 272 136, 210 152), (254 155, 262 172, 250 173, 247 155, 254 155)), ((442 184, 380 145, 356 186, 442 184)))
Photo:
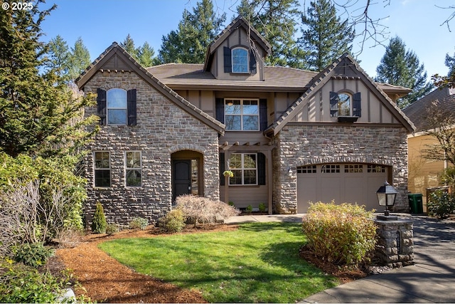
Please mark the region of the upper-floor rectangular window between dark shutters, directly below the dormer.
POLYGON ((225 99, 226 130, 259 131, 259 100, 225 99))

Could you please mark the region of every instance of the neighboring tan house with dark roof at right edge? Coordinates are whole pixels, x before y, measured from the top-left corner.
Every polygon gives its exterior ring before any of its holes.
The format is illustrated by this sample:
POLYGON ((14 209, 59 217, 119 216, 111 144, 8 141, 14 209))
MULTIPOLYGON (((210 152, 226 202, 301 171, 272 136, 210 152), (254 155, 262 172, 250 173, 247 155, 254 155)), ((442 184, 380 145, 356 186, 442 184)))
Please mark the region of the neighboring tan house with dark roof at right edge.
POLYGON ((447 162, 434 161, 424 157, 423 150, 428 149, 429 145, 437 145, 436 138, 427 135, 428 130, 427 116, 431 115, 429 109, 432 103, 438 100, 438 106, 446 110, 455 112, 455 89, 437 88, 423 98, 415 101, 403 110, 407 117, 414 122, 416 132, 408 135, 409 145, 409 191, 412 193, 423 194, 424 204, 427 201, 427 188, 438 187, 439 174, 448 166, 447 162))

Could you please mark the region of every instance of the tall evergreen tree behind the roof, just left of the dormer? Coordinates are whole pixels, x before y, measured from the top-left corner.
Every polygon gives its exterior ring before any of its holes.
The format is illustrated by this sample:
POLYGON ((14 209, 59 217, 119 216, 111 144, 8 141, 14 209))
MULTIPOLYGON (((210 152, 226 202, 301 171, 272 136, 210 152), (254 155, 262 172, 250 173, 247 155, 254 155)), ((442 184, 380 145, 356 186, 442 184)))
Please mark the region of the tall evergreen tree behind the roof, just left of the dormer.
POLYGON ((226 14, 217 17, 211 0, 202 0, 193 14, 183 11, 178 29, 163 36, 159 50, 161 63, 203 63, 205 52, 218 35, 226 14))

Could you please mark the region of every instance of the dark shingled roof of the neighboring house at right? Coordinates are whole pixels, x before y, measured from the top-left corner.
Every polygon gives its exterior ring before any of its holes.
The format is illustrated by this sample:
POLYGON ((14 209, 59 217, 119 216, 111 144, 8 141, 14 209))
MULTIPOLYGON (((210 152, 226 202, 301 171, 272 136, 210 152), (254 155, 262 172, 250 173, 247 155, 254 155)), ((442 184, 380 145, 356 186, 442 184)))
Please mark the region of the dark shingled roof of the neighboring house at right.
POLYGON ((437 88, 403 110, 407 117, 410 117, 410 120, 414 122, 417 132, 427 129, 427 110, 431 108, 435 100, 439 101, 439 107, 444 107, 444 110, 455 113, 455 88, 437 88))

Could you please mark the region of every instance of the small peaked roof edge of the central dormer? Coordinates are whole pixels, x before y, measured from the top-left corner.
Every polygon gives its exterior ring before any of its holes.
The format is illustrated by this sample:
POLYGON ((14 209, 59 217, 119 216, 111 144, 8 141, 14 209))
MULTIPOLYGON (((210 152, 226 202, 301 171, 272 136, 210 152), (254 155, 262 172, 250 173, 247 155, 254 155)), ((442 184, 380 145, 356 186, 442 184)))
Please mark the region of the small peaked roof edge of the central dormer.
POLYGON ((247 19, 242 16, 237 16, 237 18, 234 19, 218 36, 216 36, 213 42, 208 46, 207 53, 205 53, 204 70, 210 70, 210 65, 213 61, 216 49, 230 36, 230 33, 235 31, 237 28, 244 28, 245 31, 250 34, 252 41, 259 43, 259 46, 264 48, 267 54, 272 53, 272 46, 270 46, 265 38, 250 25, 247 19))

